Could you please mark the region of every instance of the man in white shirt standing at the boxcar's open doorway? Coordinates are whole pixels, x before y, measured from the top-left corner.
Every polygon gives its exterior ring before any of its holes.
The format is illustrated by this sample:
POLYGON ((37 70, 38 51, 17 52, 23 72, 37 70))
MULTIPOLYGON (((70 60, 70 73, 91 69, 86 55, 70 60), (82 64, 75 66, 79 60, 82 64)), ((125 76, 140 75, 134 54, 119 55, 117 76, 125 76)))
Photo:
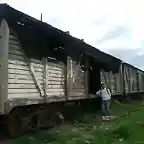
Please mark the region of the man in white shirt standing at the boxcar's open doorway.
POLYGON ((102 119, 108 120, 111 92, 108 88, 105 88, 104 83, 101 83, 100 90, 96 92, 96 94, 102 97, 102 119))

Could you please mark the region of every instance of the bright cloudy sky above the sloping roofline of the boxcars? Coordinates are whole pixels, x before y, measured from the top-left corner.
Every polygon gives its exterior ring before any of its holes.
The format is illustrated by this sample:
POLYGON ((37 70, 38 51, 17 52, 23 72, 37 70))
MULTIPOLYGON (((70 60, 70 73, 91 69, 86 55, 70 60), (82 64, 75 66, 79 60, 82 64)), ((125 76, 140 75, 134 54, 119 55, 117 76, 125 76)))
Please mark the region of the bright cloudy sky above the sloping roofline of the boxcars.
MULTIPOLYGON (((70 31, 85 42, 135 66, 144 57, 142 0, 0 0, 37 19, 70 31), (132 54, 131 54, 132 53, 132 54), (137 63, 133 62, 137 59, 137 63)), ((144 58, 143 58, 144 59, 144 58)))

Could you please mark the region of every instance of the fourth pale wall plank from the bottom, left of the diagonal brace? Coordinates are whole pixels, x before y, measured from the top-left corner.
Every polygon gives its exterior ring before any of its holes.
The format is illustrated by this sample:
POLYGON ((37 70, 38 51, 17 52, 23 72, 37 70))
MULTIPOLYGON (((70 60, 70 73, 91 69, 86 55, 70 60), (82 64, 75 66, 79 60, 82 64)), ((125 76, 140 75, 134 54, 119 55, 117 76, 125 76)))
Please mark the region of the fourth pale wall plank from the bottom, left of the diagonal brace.
POLYGON ((20 80, 20 79, 8 79, 8 83, 13 84, 35 84, 33 80, 20 80))

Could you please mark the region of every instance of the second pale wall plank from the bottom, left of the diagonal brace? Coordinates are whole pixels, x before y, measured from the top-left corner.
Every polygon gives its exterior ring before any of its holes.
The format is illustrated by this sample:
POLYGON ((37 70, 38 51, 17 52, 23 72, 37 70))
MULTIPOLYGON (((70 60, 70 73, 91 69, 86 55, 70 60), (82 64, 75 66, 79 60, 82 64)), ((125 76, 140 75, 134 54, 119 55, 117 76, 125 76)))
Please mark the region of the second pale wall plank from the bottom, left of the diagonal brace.
POLYGON ((8 93, 39 93, 37 89, 8 89, 8 93))

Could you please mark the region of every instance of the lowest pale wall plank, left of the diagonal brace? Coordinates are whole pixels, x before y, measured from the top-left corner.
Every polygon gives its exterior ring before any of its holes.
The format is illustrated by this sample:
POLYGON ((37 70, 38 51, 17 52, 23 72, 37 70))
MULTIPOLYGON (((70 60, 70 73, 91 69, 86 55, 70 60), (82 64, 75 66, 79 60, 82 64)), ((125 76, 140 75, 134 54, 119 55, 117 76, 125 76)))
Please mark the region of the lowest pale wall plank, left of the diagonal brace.
POLYGON ((40 94, 39 93, 12 93, 12 94, 8 94, 9 98, 27 98, 27 99, 31 99, 31 98, 39 98, 40 94))

